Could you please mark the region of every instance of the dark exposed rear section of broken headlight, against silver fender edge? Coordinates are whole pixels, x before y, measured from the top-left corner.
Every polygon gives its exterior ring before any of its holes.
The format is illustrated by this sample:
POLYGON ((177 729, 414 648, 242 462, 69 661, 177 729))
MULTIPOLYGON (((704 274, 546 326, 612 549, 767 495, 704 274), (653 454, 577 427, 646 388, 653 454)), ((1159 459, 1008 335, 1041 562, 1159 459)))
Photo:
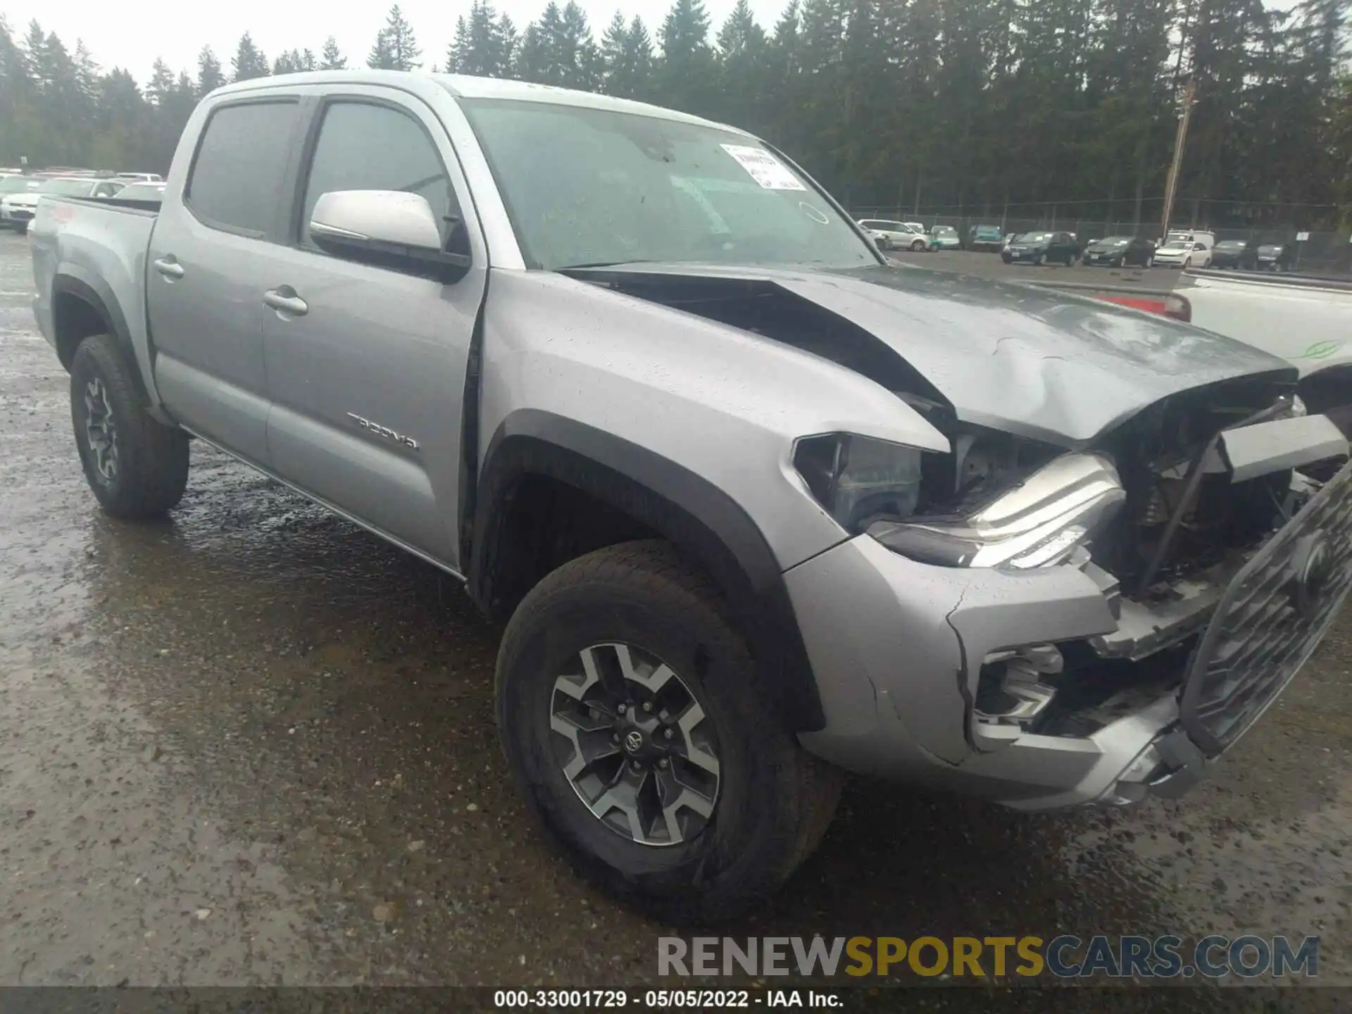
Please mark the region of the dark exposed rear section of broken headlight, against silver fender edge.
POLYGON ((829 433, 799 439, 794 468, 817 502, 852 535, 869 522, 915 512, 921 491, 921 452, 915 448, 829 433))

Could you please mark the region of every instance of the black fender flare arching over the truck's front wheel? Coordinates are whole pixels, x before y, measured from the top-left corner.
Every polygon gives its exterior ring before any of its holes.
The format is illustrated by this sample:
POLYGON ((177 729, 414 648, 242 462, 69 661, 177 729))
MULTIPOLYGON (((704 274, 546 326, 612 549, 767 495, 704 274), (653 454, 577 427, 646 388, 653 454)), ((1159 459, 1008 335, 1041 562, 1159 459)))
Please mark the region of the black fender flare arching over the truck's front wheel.
MULTIPOLYGON (((522 479, 545 476, 572 485, 673 542, 706 569, 734 610, 775 702, 796 731, 826 723, 807 649, 779 561, 752 518, 727 493, 683 465, 611 433, 553 412, 512 412, 484 454, 466 568, 470 598, 502 619, 493 557, 503 504, 522 479)), ((514 604, 514 603, 512 603, 514 604)))

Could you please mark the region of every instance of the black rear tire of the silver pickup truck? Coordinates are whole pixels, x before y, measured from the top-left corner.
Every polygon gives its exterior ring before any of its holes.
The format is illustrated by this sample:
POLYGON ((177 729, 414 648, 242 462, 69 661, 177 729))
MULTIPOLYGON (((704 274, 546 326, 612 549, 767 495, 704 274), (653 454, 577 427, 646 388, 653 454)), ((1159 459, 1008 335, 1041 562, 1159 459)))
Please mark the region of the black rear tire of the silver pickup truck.
POLYGON ((188 434, 153 419, 131 369, 107 334, 85 338, 70 362, 70 419, 85 480, 104 511, 142 519, 164 514, 188 485, 188 434), (116 475, 103 475, 88 435, 85 395, 99 381, 115 430, 116 475))

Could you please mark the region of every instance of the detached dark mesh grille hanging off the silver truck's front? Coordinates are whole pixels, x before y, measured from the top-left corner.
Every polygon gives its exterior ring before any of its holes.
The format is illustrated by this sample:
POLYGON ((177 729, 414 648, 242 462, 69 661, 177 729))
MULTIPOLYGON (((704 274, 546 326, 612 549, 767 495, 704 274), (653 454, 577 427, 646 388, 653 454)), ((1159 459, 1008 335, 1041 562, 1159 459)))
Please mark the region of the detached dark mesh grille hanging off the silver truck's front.
POLYGON ((1206 753, 1226 749, 1295 676, 1352 588, 1352 464, 1240 571, 1198 642, 1183 685, 1183 727, 1206 753))

